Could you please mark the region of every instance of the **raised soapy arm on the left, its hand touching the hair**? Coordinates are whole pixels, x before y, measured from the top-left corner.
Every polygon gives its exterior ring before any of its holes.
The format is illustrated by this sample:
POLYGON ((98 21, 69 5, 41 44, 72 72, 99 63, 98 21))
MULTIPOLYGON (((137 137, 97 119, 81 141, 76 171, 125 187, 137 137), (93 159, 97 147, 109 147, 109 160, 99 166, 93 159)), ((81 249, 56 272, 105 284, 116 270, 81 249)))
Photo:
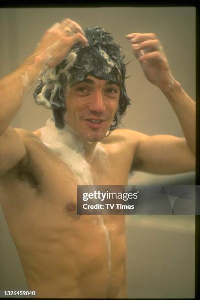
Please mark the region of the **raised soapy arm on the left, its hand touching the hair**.
POLYGON ((26 92, 45 68, 55 67, 78 42, 88 46, 80 25, 70 19, 56 23, 45 32, 25 62, 0 80, 0 174, 25 156, 20 136, 9 125, 20 109, 26 92))

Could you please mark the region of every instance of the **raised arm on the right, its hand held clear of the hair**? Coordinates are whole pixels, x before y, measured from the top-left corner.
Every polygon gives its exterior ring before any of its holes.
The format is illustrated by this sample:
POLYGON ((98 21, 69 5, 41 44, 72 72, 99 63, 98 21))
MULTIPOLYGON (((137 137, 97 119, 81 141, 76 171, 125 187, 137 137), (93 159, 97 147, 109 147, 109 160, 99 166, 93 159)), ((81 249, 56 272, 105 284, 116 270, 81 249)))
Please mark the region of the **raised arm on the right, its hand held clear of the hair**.
POLYGON ((135 169, 173 174, 195 169, 195 101, 171 74, 160 41, 154 33, 132 33, 127 39, 147 79, 166 96, 175 111, 185 138, 141 134, 135 155, 135 169))

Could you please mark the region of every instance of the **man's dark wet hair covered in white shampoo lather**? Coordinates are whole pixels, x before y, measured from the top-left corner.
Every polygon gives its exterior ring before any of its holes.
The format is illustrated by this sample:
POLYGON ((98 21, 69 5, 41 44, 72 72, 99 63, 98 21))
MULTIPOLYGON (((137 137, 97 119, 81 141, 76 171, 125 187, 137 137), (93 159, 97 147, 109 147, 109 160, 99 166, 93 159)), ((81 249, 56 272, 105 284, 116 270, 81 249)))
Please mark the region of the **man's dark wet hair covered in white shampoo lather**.
POLYGON ((113 81, 120 86, 121 92, 117 112, 110 126, 111 131, 117 128, 130 104, 125 89, 125 56, 122 56, 120 46, 114 42, 110 33, 105 32, 102 27, 86 28, 84 33, 89 46, 75 44, 55 68, 44 71, 38 79, 33 97, 37 104, 52 110, 55 126, 63 128, 68 83, 72 86, 85 80, 88 75, 113 81))

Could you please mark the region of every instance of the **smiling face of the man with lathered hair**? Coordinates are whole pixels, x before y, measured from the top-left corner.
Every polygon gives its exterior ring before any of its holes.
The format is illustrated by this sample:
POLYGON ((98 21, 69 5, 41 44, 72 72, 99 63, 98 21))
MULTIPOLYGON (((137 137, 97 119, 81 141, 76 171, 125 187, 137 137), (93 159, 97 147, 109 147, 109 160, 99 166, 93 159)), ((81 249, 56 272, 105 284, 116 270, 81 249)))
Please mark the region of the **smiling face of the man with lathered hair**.
POLYGON ((111 81, 87 76, 68 87, 65 122, 88 142, 102 140, 117 111, 120 87, 111 81))

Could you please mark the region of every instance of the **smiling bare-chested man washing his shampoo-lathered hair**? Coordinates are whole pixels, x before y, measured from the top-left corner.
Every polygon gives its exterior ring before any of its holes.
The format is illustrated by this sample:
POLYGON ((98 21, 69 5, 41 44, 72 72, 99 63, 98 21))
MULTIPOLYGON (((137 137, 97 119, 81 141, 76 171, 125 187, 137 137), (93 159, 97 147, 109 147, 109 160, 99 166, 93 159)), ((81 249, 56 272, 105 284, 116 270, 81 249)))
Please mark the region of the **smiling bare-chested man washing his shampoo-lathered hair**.
POLYGON ((126 185, 131 170, 194 170, 194 101, 171 75, 154 34, 126 37, 148 80, 172 105, 185 138, 115 129, 129 104, 125 67, 100 27, 84 33, 72 20, 56 23, 0 82, 1 206, 37 297, 126 297, 125 217, 77 216, 77 184, 126 185), (53 117, 33 133, 9 127, 39 75, 34 97, 53 117))

